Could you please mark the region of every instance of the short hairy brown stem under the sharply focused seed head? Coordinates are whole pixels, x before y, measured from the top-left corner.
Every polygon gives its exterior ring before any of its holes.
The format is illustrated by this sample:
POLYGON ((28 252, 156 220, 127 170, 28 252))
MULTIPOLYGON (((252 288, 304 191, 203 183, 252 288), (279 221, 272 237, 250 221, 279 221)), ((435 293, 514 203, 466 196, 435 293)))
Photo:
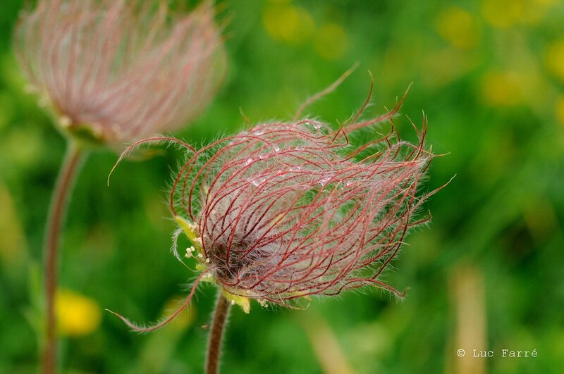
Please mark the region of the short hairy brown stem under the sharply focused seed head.
POLYGON ((206 374, 218 373, 221 341, 223 340, 223 330, 225 330, 230 307, 231 304, 229 304, 228 299, 223 297, 223 293, 219 291, 212 318, 212 330, 209 331, 207 343, 206 374))

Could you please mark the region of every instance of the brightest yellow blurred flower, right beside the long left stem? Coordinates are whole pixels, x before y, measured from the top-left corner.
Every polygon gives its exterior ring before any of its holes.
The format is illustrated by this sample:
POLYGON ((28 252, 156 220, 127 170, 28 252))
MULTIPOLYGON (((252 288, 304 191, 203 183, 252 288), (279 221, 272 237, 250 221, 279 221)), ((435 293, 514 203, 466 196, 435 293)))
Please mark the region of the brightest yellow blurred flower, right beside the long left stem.
POLYGON ((63 336, 88 335, 102 322, 102 311, 96 301, 68 289, 57 292, 55 308, 59 333, 63 336))

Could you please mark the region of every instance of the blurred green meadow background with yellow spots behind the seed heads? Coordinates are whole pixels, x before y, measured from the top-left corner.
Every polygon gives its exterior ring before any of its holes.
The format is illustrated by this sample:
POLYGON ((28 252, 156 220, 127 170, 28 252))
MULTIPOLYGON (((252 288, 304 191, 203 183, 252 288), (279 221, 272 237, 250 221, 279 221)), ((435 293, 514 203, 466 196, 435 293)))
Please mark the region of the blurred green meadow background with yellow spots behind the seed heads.
MULTIPOLYGON (((412 88, 402 113, 429 118, 437 154, 429 227, 408 237, 386 282, 407 296, 347 293, 305 311, 233 310, 223 373, 561 373, 564 370, 564 4, 558 0, 221 2, 230 66, 180 137, 201 144, 308 109, 335 124, 412 88), (458 349, 467 356, 459 358, 458 349), (472 359, 472 349, 494 357, 472 359), (501 349, 536 349, 503 358, 501 349)), ((65 142, 23 93, 11 51, 21 0, 0 4, 0 372, 36 370, 43 225, 65 142)), ((367 114, 368 116, 368 114, 367 114)), ((412 139, 410 125, 398 119, 412 139)), ((200 373, 215 290, 177 323, 129 332, 103 311, 153 321, 194 279, 170 254, 166 186, 178 154, 116 161, 93 151, 76 183, 61 254, 65 373, 200 373)))

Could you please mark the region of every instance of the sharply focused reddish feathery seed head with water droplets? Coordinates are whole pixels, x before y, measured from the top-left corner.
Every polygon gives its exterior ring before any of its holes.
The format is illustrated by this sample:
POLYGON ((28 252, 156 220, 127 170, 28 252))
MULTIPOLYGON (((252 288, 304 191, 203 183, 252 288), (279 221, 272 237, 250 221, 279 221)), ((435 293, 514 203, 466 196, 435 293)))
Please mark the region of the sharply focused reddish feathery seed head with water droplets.
POLYGON ((288 306, 366 285, 400 294, 379 278, 407 229, 428 219, 414 218, 430 195, 417 196, 433 157, 426 128, 419 144, 393 127, 369 144, 347 135, 399 105, 337 131, 312 119, 257 125, 196 151, 171 208, 202 255, 197 268, 245 311, 249 299, 288 306))

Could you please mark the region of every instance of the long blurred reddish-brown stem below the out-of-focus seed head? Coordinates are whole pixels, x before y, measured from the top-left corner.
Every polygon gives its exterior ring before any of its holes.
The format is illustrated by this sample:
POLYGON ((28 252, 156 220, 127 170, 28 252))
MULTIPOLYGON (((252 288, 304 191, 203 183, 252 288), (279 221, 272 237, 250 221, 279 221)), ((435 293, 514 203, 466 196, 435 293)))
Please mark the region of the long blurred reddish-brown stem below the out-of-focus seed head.
POLYGON ((76 172, 84 155, 83 149, 72 140, 68 144, 65 161, 51 195, 51 206, 47 218, 47 229, 43 247, 44 287, 45 287, 45 341, 42 357, 42 373, 56 373, 56 321, 55 292, 58 282, 59 241, 61 227, 65 219, 68 197, 71 194, 76 172))

